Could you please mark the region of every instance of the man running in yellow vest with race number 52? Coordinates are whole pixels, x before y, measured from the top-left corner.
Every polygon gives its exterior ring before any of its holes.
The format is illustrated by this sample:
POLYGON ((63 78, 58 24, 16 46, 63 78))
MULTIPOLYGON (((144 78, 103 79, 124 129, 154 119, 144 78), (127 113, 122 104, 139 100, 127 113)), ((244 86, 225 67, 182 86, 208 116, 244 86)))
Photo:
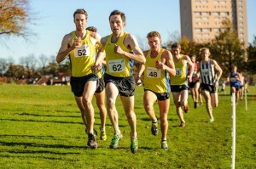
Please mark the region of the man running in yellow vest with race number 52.
POLYGON ((94 108, 91 103, 96 91, 96 72, 92 71, 95 65, 96 47, 101 48, 101 36, 85 30, 88 14, 83 8, 73 13, 76 30, 65 35, 61 48, 56 56, 57 63, 61 63, 67 56, 71 62, 71 88, 76 103, 79 106, 85 132, 88 132, 87 145, 91 149, 97 148, 96 132, 94 132, 94 108))

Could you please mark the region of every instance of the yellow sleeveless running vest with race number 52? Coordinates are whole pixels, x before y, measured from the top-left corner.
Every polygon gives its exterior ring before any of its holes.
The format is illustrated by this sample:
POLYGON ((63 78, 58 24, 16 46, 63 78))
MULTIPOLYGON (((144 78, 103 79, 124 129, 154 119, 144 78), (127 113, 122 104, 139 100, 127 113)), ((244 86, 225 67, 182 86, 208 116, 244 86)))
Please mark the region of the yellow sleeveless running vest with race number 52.
MULTIPOLYGON (((75 31, 72 32, 73 41, 77 39, 75 31)), ((72 76, 87 76, 92 71, 91 66, 95 63, 95 45, 90 41, 90 32, 80 42, 80 47, 73 49, 69 54, 72 76)))

